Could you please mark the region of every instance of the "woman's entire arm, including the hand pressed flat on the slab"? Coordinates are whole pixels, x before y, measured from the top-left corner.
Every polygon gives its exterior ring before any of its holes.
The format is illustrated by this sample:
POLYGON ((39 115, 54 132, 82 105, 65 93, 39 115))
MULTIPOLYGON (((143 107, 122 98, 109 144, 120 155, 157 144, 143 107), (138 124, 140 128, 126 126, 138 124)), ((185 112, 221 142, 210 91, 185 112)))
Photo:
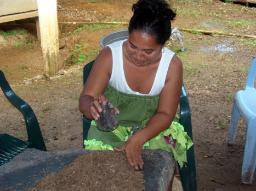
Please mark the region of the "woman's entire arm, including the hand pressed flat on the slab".
POLYGON ((116 151, 126 151, 127 159, 135 169, 143 168, 141 152, 145 142, 166 130, 172 123, 179 105, 182 80, 182 63, 174 55, 168 68, 166 83, 160 93, 156 114, 143 129, 131 136, 125 145, 115 148, 116 151))

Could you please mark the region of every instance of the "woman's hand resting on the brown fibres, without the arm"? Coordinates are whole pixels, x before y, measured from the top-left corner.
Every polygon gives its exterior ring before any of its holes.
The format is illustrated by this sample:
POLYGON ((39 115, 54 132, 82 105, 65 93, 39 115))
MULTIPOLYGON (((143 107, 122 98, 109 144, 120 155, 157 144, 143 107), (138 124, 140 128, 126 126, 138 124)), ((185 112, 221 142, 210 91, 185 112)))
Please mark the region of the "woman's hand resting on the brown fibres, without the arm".
POLYGON ((125 151, 130 165, 134 166, 136 170, 139 170, 143 169, 144 165, 143 158, 141 156, 143 145, 144 142, 133 135, 126 141, 126 144, 119 148, 114 147, 113 149, 117 152, 125 151))

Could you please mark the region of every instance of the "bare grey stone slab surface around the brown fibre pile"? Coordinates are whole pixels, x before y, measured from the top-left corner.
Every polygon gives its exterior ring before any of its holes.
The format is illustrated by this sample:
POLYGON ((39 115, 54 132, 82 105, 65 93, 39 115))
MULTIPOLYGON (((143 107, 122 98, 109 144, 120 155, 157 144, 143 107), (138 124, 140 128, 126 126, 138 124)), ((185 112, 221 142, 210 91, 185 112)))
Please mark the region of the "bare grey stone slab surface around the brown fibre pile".
MULTIPOLYGON (((50 172, 61 171, 66 165, 91 150, 70 149, 43 152, 27 148, 10 162, 0 166, 0 190, 26 190, 33 188, 50 172)), ((143 150, 145 190, 166 191, 174 174, 175 162, 171 153, 162 150, 143 150)))

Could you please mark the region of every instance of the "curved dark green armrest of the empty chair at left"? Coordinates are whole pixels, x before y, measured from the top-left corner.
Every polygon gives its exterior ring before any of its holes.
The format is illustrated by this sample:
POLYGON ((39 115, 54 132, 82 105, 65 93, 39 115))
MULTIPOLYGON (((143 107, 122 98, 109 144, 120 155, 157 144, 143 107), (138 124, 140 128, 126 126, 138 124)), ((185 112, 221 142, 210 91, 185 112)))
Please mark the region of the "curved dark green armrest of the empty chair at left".
POLYGON ((27 128, 27 141, 31 143, 29 147, 37 148, 38 150, 42 151, 47 151, 35 113, 33 112, 29 104, 27 104, 24 100, 22 100, 14 93, 13 89, 10 87, 8 81, 6 80, 2 70, 0 70, 0 87, 9 102, 13 106, 15 106, 15 108, 17 108, 24 116, 27 128))

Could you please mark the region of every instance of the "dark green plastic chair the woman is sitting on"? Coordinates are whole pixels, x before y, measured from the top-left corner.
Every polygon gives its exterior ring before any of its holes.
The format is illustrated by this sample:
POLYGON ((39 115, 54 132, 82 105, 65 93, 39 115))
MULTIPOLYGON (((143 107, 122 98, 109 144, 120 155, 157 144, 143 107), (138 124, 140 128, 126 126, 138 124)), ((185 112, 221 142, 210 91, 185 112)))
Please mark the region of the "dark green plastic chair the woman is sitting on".
MULTIPOLYGON (((86 83, 90 70, 92 69, 93 63, 94 60, 84 65, 83 85, 86 83)), ((83 116, 83 140, 87 140, 90 123, 91 120, 88 120, 86 117, 83 116)), ((189 99, 187 98, 187 93, 184 85, 182 86, 182 91, 180 95, 180 124, 183 125, 185 132, 187 132, 187 135, 189 135, 190 138, 193 139, 189 99)), ((187 150, 186 168, 184 166, 182 169, 179 169, 179 172, 184 191, 196 191, 197 181, 194 146, 190 147, 189 150, 187 150)))

